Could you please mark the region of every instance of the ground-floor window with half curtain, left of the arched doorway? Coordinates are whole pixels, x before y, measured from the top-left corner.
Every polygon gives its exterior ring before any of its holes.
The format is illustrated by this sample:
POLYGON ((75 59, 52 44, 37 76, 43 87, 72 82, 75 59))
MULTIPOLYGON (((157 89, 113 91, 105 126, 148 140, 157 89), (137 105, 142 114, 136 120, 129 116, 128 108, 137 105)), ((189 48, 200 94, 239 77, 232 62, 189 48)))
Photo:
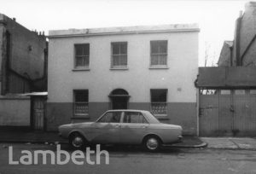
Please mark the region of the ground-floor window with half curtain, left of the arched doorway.
POLYGON ((73 90, 73 108, 75 116, 86 116, 88 115, 88 90, 73 90))

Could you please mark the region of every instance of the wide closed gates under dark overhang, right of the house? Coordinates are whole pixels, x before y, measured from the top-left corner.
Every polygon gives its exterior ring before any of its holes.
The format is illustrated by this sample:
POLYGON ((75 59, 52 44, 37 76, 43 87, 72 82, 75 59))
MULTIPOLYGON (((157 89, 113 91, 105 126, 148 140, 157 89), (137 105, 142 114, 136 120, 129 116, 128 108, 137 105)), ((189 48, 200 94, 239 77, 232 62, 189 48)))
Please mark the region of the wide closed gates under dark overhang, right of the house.
POLYGON ((256 90, 200 91, 200 136, 256 136, 256 90))

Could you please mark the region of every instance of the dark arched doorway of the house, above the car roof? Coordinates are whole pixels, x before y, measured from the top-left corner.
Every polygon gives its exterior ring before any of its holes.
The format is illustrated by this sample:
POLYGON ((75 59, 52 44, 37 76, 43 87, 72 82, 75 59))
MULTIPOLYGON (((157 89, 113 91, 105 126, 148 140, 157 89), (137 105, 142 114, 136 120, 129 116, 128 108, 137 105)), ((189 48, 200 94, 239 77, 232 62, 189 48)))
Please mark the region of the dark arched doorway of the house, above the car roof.
POLYGON ((130 96, 126 90, 123 90, 123 89, 113 90, 109 95, 109 97, 111 99, 112 109, 128 108, 128 100, 130 96))

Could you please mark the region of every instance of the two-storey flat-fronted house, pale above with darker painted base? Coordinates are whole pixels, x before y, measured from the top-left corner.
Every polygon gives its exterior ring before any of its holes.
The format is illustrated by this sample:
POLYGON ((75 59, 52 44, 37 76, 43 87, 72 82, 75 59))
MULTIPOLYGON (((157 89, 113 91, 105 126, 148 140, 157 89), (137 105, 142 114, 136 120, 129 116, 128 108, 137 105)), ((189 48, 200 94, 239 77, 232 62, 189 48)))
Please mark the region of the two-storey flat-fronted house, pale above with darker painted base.
POLYGON ((49 31, 47 130, 149 110, 196 134, 196 24, 49 31))

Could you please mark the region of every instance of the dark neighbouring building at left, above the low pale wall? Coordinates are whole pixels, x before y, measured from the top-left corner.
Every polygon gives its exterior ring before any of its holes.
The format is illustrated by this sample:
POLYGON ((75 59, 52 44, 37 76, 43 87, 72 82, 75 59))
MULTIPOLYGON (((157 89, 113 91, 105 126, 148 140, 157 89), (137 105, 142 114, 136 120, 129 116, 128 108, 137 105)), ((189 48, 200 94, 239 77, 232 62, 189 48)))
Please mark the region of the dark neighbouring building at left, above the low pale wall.
POLYGON ((15 18, 0 14, 1 95, 45 91, 46 72, 47 42, 43 32, 32 32, 15 18))

